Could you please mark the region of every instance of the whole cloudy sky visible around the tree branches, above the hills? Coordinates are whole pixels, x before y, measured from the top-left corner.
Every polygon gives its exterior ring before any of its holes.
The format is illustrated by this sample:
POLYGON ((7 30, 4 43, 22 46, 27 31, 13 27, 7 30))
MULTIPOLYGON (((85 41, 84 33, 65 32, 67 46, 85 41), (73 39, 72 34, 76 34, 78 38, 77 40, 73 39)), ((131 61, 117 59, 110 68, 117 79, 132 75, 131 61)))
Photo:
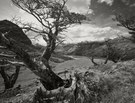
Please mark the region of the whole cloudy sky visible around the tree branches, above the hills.
MULTIPOLYGON (((128 30, 117 27, 117 23, 112 18, 115 14, 123 14, 127 17, 135 15, 135 0, 68 0, 67 5, 70 11, 87 14, 91 19, 67 30, 65 34, 69 43, 127 35, 128 30)), ((15 7, 10 0, 0 0, 0 20, 10 20, 14 16, 26 22, 37 22, 32 16, 15 7)), ((44 44, 42 39, 39 42, 44 44)))

